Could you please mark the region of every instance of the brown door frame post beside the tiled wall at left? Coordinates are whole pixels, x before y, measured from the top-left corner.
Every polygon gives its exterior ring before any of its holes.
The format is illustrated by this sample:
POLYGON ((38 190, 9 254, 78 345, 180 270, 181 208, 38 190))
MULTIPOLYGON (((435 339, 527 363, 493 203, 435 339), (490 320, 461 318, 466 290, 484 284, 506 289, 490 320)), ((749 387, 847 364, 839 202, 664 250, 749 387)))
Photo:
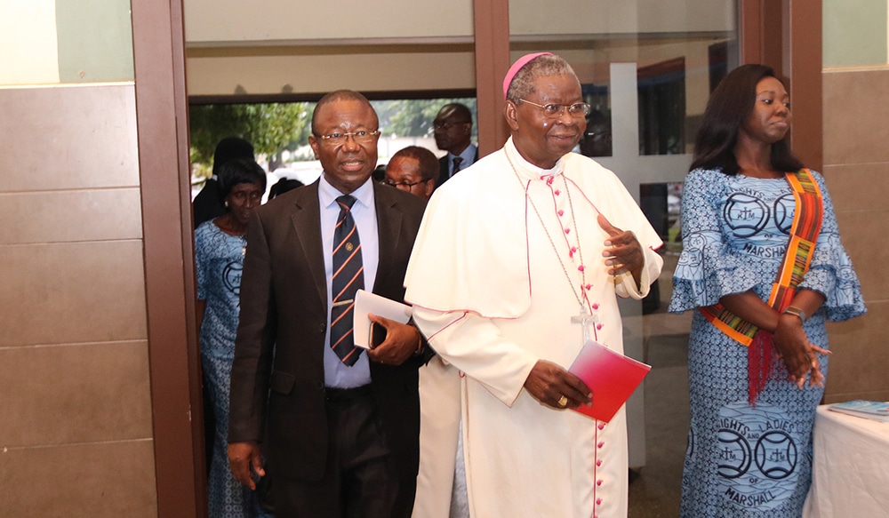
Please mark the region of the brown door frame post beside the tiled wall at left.
POLYGON ((206 515, 181 0, 132 2, 157 515, 206 515))

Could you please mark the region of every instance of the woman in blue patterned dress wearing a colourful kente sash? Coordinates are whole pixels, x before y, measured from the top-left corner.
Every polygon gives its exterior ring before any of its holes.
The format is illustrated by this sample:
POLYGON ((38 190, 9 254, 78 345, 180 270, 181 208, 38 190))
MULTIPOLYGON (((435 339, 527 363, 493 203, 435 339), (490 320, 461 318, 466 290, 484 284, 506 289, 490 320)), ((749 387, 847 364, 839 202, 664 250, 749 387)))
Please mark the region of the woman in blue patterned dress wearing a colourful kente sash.
POLYGON ((789 124, 773 70, 736 68, 709 100, 685 179, 669 311, 694 310, 688 518, 802 514, 828 367, 824 323, 865 312, 824 179, 800 171, 789 124), (788 275, 773 295, 779 272, 788 275))

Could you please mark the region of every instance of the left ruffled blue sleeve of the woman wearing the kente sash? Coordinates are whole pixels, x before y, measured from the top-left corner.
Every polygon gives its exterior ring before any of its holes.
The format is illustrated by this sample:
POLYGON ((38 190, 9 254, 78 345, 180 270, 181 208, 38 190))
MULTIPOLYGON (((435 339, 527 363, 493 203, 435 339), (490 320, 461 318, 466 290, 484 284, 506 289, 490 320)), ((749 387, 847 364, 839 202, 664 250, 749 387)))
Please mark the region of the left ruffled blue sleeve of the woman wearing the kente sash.
POLYGON ((682 193, 682 244, 669 312, 712 306, 724 295, 749 291, 759 283, 749 261, 723 238, 719 215, 729 177, 696 169, 682 193))

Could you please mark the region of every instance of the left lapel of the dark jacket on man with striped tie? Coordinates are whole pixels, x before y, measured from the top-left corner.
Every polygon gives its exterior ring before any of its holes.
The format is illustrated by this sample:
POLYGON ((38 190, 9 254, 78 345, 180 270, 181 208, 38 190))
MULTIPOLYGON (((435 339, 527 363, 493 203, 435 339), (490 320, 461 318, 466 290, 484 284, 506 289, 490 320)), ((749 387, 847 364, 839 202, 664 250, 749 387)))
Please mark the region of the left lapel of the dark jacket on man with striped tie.
POLYGON ((293 202, 291 220, 300 250, 306 254, 306 264, 315 279, 315 287, 323 306, 327 305, 327 278, 324 273, 324 250, 321 239, 321 203, 318 202, 318 182, 300 189, 293 202))

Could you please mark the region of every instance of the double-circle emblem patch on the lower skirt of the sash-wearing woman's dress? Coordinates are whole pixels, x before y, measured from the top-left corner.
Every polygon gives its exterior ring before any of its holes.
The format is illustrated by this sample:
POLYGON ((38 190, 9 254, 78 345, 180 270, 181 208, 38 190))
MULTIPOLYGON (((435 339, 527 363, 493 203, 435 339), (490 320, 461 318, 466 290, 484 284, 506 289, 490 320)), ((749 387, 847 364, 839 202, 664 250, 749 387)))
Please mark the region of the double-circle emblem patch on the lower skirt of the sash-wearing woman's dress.
POLYGON ((719 410, 719 484, 743 509, 769 511, 797 486, 797 426, 780 408, 733 402, 719 410))

